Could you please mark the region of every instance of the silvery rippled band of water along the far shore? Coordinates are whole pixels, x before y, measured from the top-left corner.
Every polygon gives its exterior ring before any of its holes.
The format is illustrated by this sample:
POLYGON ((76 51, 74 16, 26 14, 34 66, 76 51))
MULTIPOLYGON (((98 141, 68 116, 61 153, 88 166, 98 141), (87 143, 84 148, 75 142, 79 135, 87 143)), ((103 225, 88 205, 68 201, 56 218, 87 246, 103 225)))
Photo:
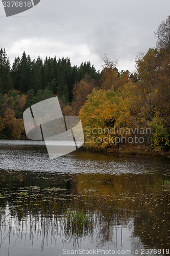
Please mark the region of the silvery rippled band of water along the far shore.
POLYGON ((170 160, 151 157, 117 157, 75 151, 50 160, 44 141, 1 140, 0 169, 58 173, 145 173, 168 171, 170 160))

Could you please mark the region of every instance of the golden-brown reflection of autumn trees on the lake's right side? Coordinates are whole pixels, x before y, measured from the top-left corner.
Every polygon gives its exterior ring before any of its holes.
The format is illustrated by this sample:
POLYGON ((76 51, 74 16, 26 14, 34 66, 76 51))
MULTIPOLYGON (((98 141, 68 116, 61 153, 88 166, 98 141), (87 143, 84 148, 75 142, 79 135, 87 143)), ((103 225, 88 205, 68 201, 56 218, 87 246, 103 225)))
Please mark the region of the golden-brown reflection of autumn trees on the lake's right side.
POLYGON ((126 224, 129 218, 134 218, 133 236, 139 237, 144 245, 168 248, 169 191, 161 186, 160 174, 154 175, 154 178, 152 174, 90 174, 88 177, 80 174, 77 180, 79 193, 85 187, 86 191, 93 189, 99 202, 104 198, 112 209, 116 206, 122 210, 116 212, 117 223, 124 220, 126 224))

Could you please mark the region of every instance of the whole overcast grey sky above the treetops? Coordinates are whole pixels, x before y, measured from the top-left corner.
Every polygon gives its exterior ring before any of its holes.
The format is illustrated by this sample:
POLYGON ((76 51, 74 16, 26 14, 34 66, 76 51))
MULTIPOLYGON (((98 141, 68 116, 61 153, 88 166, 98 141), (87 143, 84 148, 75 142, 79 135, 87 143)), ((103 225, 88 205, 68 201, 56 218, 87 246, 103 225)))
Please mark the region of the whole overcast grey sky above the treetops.
MULTIPOLYGON (((18 0, 19 1, 19 0, 18 0)), ((22 55, 69 57, 71 65, 101 56, 118 59, 118 70, 135 70, 139 52, 155 47, 154 31, 170 14, 169 0, 41 0, 34 8, 6 17, 0 2, 0 48, 10 61, 22 55)))

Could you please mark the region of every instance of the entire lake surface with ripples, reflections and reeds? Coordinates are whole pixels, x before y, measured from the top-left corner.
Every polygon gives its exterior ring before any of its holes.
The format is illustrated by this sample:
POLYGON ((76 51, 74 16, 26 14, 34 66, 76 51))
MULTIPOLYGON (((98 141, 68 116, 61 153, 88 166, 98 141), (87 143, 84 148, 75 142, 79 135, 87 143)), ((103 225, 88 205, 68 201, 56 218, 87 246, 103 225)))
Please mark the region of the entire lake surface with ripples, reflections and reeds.
POLYGON ((0 170, 2 256, 170 253, 168 158, 1 140, 0 170))

